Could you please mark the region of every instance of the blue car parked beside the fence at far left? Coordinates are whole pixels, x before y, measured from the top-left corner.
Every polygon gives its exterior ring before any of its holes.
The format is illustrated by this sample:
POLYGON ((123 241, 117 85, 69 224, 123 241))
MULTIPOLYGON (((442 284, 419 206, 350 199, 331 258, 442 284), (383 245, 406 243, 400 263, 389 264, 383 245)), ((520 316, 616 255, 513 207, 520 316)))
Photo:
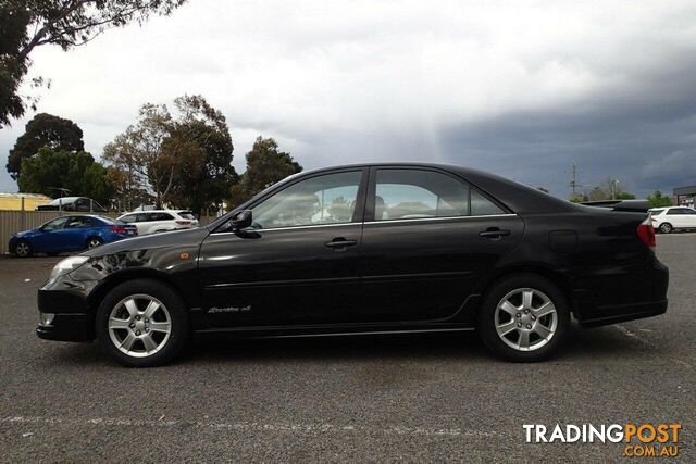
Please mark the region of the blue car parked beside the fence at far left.
POLYGON ((95 215, 61 216, 41 227, 16 233, 10 238, 10 252, 20 258, 33 253, 59 254, 80 251, 138 235, 134 225, 95 215))

